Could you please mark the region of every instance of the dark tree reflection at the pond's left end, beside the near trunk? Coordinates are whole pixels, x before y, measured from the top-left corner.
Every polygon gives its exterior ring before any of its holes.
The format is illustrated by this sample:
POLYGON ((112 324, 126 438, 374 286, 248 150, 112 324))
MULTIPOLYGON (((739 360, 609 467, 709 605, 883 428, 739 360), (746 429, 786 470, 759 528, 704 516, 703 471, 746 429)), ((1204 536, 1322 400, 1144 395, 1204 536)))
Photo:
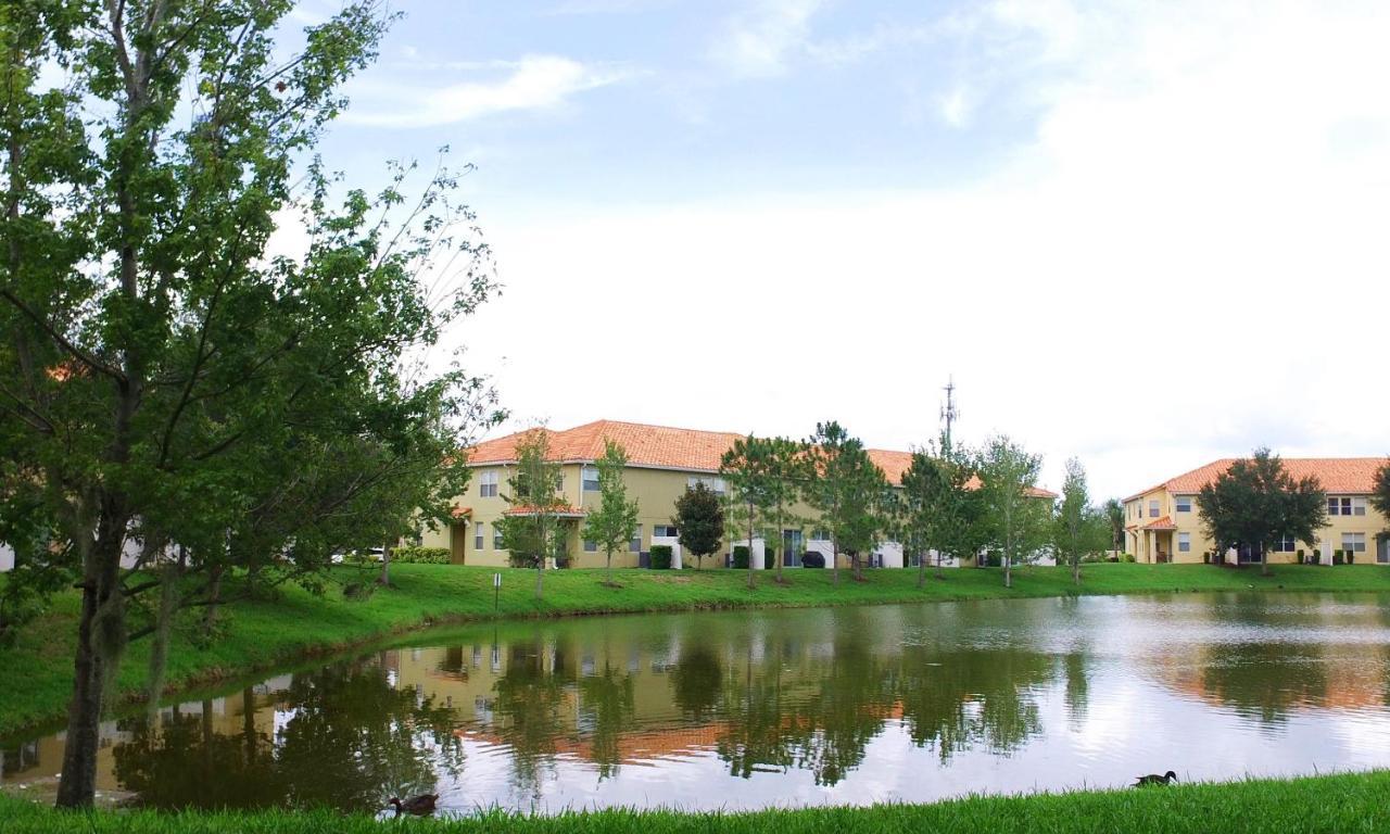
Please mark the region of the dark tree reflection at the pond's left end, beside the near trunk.
MULTIPOLYGON (((243 694, 252 708, 252 694, 243 694)), ((179 716, 153 731, 131 719, 131 739, 115 746, 120 783, 158 808, 328 806, 368 810, 393 795, 435 785, 435 771, 457 774, 463 748, 453 713, 396 689, 379 664, 357 663, 295 676, 284 694, 289 719, 272 739, 254 726, 213 730, 202 716, 179 716)))

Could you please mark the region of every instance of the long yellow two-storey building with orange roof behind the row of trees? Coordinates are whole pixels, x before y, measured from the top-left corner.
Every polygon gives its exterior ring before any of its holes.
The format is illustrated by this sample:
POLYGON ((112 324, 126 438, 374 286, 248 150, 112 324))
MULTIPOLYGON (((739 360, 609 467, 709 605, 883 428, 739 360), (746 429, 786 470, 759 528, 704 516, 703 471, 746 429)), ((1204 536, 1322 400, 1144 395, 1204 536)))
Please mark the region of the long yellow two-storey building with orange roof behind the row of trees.
MULTIPOLYGON (((474 448, 468 457, 473 478, 468 493, 457 499, 455 523, 448 530, 427 531, 425 546, 449 548, 455 563, 505 566, 507 552, 502 549, 502 531, 498 523, 512 509, 502 498, 507 489, 507 478, 516 466, 516 445, 525 432, 512 434, 486 441, 474 448)), ((564 552, 574 567, 602 567, 605 556, 594 542, 580 538, 584 516, 599 503, 598 468, 594 461, 603 455, 605 439, 623 445, 628 466, 624 473, 628 495, 638 500, 638 528, 624 553, 613 555, 613 564, 621 567, 646 566, 652 545, 671 545, 677 560, 680 545, 671 517, 676 514, 676 499, 687 486, 703 481, 710 489, 723 493, 723 478, 719 477, 719 460, 744 435, 719 431, 698 431, 645 425, 641 423, 620 423, 599 420, 566 431, 550 431, 552 459, 562 464, 560 493, 567 499, 562 513, 564 531, 564 552)), ((891 484, 899 484, 902 474, 912 463, 910 452, 870 449, 869 457, 883 470, 891 484)), ((1040 498, 1052 498, 1045 489, 1036 491, 1040 498)), ((792 514, 806 517, 810 509, 796 506, 792 514)), ((723 557, 733 546, 746 543, 748 534, 727 530, 724 546, 705 564, 723 564, 723 557)), ((808 550, 820 552, 830 564, 828 537, 810 525, 788 525, 781 530, 777 541, 752 542, 755 566, 773 567, 760 562, 764 546, 777 553, 785 567, 801 566, 801 557, 808 550)), ((903 567, 902 545, 881 542, 873 553, 865 555, 865 564, 874 567, 903 567)), ((841 557, 841 566, 847 559, 841 557)))

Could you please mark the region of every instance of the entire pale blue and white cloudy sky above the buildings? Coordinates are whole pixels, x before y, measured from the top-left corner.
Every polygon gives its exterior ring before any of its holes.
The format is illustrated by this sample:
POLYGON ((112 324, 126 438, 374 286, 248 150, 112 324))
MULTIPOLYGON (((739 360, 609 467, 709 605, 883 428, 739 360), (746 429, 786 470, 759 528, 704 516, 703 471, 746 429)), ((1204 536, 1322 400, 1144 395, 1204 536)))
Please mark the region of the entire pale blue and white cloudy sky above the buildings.
MULTIPOLYGON (((311 22, 335 3, 304 0, 311 22)), ((1390 453, 1390 4, 400 1, 322 152, 448 145, 513 430, 1006 434, 1099 500, 1390 453)))

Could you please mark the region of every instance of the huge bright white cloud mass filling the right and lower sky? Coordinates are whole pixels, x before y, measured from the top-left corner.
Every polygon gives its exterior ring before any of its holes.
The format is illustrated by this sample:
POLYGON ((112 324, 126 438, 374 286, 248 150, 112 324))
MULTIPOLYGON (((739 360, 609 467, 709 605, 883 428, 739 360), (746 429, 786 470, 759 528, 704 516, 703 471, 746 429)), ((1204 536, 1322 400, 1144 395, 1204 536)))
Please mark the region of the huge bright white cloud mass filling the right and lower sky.
POLYGON ((1054 486, 1080 455, 1098 496, 1265 442, 1390 450, 1390 6, 1051 8, 973 22, 1037 125, 981 181, 493 215, 475 357, 556 425, 834 417, 895 448, 955 374, 967 438, 1054 486))

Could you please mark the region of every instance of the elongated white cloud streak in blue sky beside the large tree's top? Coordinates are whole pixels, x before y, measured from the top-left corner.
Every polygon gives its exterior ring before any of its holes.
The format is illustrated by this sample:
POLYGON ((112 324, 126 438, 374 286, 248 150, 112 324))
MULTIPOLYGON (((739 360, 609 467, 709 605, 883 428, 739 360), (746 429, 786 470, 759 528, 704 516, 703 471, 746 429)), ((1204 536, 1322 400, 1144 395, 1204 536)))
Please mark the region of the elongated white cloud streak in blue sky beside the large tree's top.
POLYGON ((527 56, 507 65, 507 75, 441 88, 414 88, 399 78, 360 82, 350 93, 348 124, 421 128, 475 120, 516 110, 552 110, 571 96, 630 78, 628 70, 594 67, 559 56, 527 56))

